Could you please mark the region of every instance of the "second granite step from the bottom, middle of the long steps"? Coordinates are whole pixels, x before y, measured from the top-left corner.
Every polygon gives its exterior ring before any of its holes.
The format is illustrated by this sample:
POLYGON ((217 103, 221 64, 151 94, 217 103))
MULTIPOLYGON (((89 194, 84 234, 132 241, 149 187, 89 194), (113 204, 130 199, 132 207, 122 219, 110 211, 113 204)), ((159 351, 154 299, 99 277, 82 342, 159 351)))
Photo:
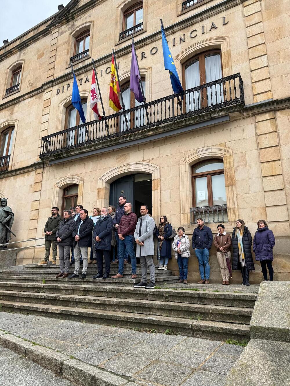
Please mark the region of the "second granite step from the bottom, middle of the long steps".
POLYGON ((212 320, 231 323, 249 324, 252 308, 212 306, 203 304, 175 303, 139 299, 106 298, 101 296, 56 295, 51 293, 31 293, 0 291, 0 301, 12 301, 29 304, 65 306, 70 308, 89 308, 127 312, 165 317, 212 320))

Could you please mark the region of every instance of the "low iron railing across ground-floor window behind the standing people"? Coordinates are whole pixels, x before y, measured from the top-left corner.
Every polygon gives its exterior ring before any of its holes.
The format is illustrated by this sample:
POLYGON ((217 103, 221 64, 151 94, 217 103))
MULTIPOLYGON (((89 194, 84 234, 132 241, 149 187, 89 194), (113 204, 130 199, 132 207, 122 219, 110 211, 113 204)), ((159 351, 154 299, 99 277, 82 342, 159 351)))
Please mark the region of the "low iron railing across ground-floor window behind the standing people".
POLYGON ((205 223, 229 222, 227 205, 214 205, 213 207, 190 208, 190 222, 196 224, 198 217, 205 223))

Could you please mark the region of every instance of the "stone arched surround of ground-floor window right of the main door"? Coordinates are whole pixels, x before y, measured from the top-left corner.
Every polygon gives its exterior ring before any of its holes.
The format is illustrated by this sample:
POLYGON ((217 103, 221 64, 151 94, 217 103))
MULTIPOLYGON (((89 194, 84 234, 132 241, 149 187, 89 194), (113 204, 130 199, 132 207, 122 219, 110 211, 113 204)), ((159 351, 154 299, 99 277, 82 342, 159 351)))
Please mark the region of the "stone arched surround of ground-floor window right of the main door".
POLYGON ((237 196, 235 190, 234 161, 232 150, 224 147, 202 147, 191 152, 179 162, 180 170, 180 206, 181 224, 193 228, 190 218, 190 208, 193 207, 193 184, 191 167, 207 159, 221 159, 225 174, 225 193, 229 223, 237 219, 237 196))

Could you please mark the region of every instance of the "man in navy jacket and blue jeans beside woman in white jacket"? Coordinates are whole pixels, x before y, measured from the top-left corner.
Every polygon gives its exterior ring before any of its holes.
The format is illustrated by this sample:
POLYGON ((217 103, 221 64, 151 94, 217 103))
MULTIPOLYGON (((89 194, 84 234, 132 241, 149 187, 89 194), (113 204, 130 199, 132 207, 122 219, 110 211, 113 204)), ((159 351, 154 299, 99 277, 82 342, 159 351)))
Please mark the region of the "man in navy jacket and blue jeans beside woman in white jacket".
POLYGON ((210 249, 212 247, 212 230, 206 227, 203 219, 199 217, 197 220, 198 227, 194 229, 192 235, 192 247, 198 259, 200 266, 200 278, 198 284, 210 284, 210 249))

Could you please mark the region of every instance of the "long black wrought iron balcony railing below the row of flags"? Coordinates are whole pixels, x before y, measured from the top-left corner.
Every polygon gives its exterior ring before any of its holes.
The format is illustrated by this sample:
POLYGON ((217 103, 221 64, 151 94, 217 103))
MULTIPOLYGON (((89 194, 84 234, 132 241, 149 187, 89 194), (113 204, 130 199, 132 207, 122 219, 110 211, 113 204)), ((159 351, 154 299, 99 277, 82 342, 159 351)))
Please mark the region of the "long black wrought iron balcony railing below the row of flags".
POLYGON ((238 73, 109 115, 99 121, 46 135, 41 141, 40 157, 117 137, 124 141, 126 135, 134 132, 243 104, 243 82, 238 73))

